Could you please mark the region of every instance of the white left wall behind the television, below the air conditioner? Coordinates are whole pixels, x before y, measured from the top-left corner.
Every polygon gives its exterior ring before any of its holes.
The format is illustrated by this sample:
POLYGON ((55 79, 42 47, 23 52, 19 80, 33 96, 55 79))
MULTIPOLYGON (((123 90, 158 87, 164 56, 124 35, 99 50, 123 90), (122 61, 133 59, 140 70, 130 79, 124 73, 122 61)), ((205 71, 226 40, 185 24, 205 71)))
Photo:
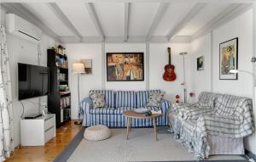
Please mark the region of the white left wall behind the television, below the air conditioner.
MULTIPOLYGON (((1 23, 5 23, 5 11, 1 10, 1 23)), ((22 115, 22 106, 18 101, 18 63, 38 65, 38 45, 33 42, 27 42, 19 37, 7 34, 10 79, 13 95, 13 118, 14 118, 14 140, 15 147, 20 144, 20 115, 22 115)), ((40 43, 42 53, 40 64, 47 66, 47 48, 55 45, 55 40, 49 36, 43 35, 40 43)), ((21 101, 24 104, 24 115, 38 113, 39 98, 31 98, 21 101)), ((47 105, 47 97, 40 98, 41 109, 47 105)))

